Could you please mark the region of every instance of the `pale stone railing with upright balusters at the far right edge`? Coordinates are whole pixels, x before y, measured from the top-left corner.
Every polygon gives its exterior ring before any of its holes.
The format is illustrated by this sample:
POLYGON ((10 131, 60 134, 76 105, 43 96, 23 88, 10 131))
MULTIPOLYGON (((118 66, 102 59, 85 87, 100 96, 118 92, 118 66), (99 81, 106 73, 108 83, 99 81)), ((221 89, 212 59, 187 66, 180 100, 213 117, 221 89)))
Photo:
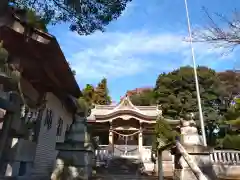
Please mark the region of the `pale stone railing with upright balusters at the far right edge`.
POLYGON ((213 164, 238 164, 240 165, 240 151, 215 150, 210 155, 213 164))

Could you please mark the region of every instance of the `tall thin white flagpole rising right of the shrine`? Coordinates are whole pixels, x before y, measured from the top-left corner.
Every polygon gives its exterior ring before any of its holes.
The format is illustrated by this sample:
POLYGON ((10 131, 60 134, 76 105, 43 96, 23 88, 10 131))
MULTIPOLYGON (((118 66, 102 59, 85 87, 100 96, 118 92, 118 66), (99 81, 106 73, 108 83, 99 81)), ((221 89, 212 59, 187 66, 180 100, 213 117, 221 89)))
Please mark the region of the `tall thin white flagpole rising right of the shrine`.
POLYGON ((200 119, 200 124, 201 124, 203 145, 207 146, 206 133, 205 133, 205 127, 204 127, 204 119, 203 119, 203 113, 202 113, 202 105, 201 105, 201 97, 200 97, 200 92, 199 92, 197 67, 196 67, 195 53, 194 53, 193 41, 192 41, 192 30, 191 30, 191 24, 190 24, 189 12, 188 12, 188 3, 187 3, 187 0, 184 0, 184 2, 185 2, 187 23, 188 23, 188 33, 189 33, 189 38, 190 38, 190 46, 191 46, 191 52, 192 52, 192 61, 193 61, 194 77, 195 77, 195 84, 196 84, 196 91, 197 91, 199 119, 200 119))

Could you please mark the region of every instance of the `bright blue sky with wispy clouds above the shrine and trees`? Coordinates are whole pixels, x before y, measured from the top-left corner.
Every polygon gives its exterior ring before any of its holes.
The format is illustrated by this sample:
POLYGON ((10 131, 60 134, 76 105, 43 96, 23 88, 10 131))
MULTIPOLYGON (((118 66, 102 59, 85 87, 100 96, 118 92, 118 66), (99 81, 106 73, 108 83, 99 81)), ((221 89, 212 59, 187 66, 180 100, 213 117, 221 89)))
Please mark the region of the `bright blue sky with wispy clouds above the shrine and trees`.
MULTIPOLYGON (((231 15, 240 9, 239 0, 189 0, 193 28, 208 23, 202 7, 210 13, 231 15)), ((108 79, 114 101, 127 90, 154 86, 158 75, 183 65, 191 65, 184 0, 133 0, 122 16, 106 27, 106 32, 79 36, 66 24, 49 27, 76 70, 80 88, 108 79)), ((232 69, 237 52, 222 55, 221 49, 195 44, 196 61, 217 71, 232 69)))

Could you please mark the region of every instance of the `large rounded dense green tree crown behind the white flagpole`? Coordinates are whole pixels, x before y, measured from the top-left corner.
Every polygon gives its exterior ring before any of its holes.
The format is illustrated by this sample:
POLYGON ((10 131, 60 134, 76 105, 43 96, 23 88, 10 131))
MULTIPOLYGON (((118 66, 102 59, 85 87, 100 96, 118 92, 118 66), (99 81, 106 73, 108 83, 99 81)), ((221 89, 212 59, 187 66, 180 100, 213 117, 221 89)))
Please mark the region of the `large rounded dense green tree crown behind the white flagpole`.
MULTIPOLYGON (((220 81, 216 72, 207 67, 198 67, 198 76, 203 107, 219 104, 220 81)), ((189 113, 198 112, 195 79, 193 68, 190 66, 181 67, 168 74, 160 74, 155 92, 164 116, 186 118, 189 113)))

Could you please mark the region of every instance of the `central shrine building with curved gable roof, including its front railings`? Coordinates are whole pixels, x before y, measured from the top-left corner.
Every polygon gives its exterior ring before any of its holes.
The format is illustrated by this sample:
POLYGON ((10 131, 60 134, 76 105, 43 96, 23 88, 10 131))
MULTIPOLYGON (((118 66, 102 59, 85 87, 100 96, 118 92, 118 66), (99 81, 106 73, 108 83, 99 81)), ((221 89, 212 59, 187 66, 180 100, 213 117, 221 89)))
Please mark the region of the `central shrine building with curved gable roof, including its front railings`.
MULTIPOLYGON (((97 137, 97 164, 109 164, 112 159, 128 159, 144 163, 145 171, 153 170, 152 140, 158 106, 134 106, 129 97, 118 105, 96 105, 88 117, 92 135, 97 137)), ((175 126, 178 121, 169 120, 175 126)), ((111 163, 110 163, 111 164, 111 163)), ((116 166, 118 167, 118 165, 116 166)))

